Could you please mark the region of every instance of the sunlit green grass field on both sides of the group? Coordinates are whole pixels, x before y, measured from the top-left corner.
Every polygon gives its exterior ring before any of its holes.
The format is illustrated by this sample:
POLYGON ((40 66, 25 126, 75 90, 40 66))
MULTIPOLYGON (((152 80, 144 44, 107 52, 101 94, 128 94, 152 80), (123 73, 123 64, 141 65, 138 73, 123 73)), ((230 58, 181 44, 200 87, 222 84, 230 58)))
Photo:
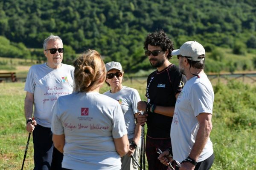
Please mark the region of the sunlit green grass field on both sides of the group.
MULTIPOLYGON (((145 81, 125 81, 145 100, 145 81)), ((28 133, 25 130, 24 83, 0 83, 0 170, 20 170, 28 133)), ((108 90, 104 86, 101 92, 108 90)), ((230 81, 214 86, 213 129, 215 152, 212 170, 256 169, 256 86, 230 81)), ((24 170, 33 169, 30 139, 24 170)))

